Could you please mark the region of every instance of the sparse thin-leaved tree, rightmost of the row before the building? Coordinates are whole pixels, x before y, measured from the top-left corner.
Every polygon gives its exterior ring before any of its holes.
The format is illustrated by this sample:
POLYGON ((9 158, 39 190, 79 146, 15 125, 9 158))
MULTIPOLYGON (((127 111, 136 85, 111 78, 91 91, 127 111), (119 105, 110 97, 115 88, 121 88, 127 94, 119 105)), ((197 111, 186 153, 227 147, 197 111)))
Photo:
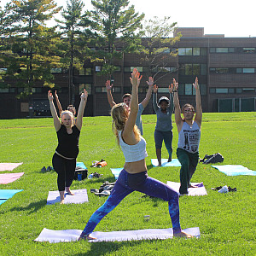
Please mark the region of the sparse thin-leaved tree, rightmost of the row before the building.
POLYGON ((176 44, 181 35, 178 34, 175 38, 171 37, 177 22, 170 23, 170 19, 171 17, 164 17, 164 19, 159 20, 158 17, 154 16, 154 19, 146 20, 143 26, 143 62, 147 63, 147 77, 158 76, 154 82, 174 71, 166 65, 170 57, 177 55, 177 51, 170 50, 170 46, 176 44), (163 72, 163 75, 159 75, 163 72))

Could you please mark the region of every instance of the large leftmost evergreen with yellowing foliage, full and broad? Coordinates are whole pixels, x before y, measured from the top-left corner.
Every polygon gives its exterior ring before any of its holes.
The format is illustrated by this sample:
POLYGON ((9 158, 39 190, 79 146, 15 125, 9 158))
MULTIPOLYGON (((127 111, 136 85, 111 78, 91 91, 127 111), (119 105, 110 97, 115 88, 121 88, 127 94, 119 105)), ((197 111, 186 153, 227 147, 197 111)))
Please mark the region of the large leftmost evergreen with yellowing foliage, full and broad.
POLYGON ((45 22, 61 10, 53 0, 13 0, 5 8, 4 35, 8 44, 2 49, 7 67, 5 77, 24 87, 20 96, 32 94, 36 82, 53 86, 51 67, 59 65, 56 42, 60 39, 55 26, 45 22))

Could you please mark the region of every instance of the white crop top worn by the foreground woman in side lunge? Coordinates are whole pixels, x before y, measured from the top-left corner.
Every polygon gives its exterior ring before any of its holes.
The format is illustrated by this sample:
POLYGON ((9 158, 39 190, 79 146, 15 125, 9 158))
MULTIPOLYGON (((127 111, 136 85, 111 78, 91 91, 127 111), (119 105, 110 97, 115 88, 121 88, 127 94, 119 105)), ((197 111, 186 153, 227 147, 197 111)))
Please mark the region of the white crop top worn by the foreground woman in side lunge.
POLYGON ((143 160, 148 156, 146 150, 146 141, 143 137, 141 140, 135 145, 126 144, 121 135, 122 131, 119 131, 119 145, 122 148, 123 154, 125 155, 125 162, 137 162, 139 160, 143 160))

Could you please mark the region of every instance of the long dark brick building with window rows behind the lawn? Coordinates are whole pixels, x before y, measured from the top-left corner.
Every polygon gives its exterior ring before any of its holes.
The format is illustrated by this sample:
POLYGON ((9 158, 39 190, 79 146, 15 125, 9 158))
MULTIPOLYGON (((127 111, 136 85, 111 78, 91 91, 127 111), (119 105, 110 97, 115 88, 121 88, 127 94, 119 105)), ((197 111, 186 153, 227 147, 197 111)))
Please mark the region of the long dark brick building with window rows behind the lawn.
MULTIPOLYGON (((195 104, 192 84, 198 77, 203 112, 256 111, 256 38, 205 35, 203 28, 177 28, 174 36, 178 32, 182 38, 166 50, 164 65, 155 70, 158 96, 168 96, 169 84, 172 79, 177 79, 181 104, 195 104), (178 50, 175 57, 169 54, 173 50, 178 50)), ((129 77, 134 67, 143 74, 139 88, 139 101, 143 101, 148 90, 148 67, 143 55, 125 54, 114 65, 117 67, 113 74, 114 102, 121 102, 123 94, 131 93, 129 77)), ((77 71, 73 79, 77 108, 79 93, 84 88, 89 92, 86 116, 108 115, 110 112, 105 88, 107 78, 98 75, 101 69, 101 63, 84 63, 83 70, 77 71)), ((61 69, 55 69, 53 73, 62 108, 67 108, 70 99, 68 73, 61 69)), ((16 97, 22 88, 0 89, 0 119, 50 116, 48 90, 38 84, 30 99, 24 101, 16 97)), ((143 113, 154 113, 152 102, 143 113)))

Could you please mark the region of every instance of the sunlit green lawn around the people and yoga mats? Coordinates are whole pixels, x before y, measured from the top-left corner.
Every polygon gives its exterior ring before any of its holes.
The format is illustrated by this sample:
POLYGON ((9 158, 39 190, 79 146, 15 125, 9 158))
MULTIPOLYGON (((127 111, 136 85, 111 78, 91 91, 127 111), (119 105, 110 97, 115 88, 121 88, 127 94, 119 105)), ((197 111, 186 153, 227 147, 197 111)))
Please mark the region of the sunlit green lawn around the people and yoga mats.
MULTIPOLYGON (((243 165, 256 170, 256 113, 204 113, 200 156, 219 152, 224 164, 243 165)), ((144 137, 147 140, 148 174, 166 183, 179 181, 179 168, 150 165, 154 153, 155 115, 143 115, 144 137)), ((81 205, 46 205, 49 190, 56 190, 56 173, 40 172, 51 166, 56 147, 52 119, 0 120, 2 127, 1 162, 23 162, 13 172, 25 172, 14 183, 0 184, 0 189, 24 189, 0 205, 0 255, 254 255, 255 249, 255 178, 229 177, 211 166, 199 164, 192 182, 203 181, 207 196, 180 199, 183 228, 199 227, 200 239, 164 241, 67 242, 50 244, 33 241, 44 228, 50 230, 83 230, 90 215, 106 198, 90 194, 81 205), (227 195, 212 187, 229 185, 237 192, 227 195)), ((173 157, 177 148, 177 129, 173 128, 173 157)), ((90 166, 93 160, 107 160, 108 166, 98 171, 101 178, 74 181, 73 189, 98 189, 114 178, 111 167, 124 165, 124 156, 115 143, 110 117, 84 118, 79 141, 78 161, 90 166)), ((167 158, 163 148, 163 158, 167 158)), ((9 173, 9 172, 1 172, 9 173)), ((110 212, 96 226, 98 231, 138 230, 172 227, 167 203, 142 197, 135 192, 110 212), (143 216, 150 215, 148 222, 143 216)))

